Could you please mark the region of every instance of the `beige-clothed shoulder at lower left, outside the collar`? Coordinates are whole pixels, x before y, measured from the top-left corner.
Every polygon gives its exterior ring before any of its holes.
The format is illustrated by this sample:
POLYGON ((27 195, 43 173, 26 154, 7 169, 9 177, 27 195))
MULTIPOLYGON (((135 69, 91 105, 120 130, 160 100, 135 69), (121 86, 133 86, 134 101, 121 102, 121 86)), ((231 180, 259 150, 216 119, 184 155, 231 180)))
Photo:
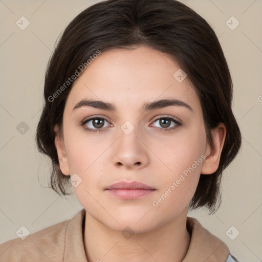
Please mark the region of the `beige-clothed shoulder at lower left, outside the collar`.
POLYGON ((55 224, 28 235, 24 240, 11 239, 0 245, 0 260, 62 261, 65 234, 70 220, 55 224), (61 259, 60 259, 61 258, 61 259))

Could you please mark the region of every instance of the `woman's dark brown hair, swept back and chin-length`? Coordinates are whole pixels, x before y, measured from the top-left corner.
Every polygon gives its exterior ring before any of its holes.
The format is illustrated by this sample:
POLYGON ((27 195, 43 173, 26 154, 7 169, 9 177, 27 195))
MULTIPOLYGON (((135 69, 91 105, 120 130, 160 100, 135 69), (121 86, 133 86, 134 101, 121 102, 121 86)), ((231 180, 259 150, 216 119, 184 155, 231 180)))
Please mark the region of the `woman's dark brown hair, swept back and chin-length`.
POLYGON ((141 45, 169 54, 186 72, 201 102, 209 144, 217 124, 223 122, 227 128, 219 168, 213 174, 201 174, 190 202, 191 209, 205 206, 215 212, 221 204, 222 171, 241 146, 241 133, 231 109, 232 80, 212 28, 192 9, 174 0, 100 2, 82 11, 65 28, 48 63, 45 104, 36 130, 38 150, 52 160, 51 188, 65 195, 71 185, 70 176, 60 170, 54 143, 54 126, 57 124, 62 132, 65 101, 75 81, 67 82, 69 77, 81 76, 81 65, 88 68, 87 61, 97 51, 141 45))

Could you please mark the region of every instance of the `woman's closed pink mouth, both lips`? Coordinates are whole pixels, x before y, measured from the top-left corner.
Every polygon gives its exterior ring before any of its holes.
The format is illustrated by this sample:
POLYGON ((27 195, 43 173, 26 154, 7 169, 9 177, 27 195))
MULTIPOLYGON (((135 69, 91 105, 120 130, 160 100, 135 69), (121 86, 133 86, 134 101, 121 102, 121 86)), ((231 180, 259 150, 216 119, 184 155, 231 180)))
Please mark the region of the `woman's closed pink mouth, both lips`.
POLYGON ((138 181, 120 181, 112 184, 105 190, 119 199, 131 200, 145 197, 156 189, 138 181))

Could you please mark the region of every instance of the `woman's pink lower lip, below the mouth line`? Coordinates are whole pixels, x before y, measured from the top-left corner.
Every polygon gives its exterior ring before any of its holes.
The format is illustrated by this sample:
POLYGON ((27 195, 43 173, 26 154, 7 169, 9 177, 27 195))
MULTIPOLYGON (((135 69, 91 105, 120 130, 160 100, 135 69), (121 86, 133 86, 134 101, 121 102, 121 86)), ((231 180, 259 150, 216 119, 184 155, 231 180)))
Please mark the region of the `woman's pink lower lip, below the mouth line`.
POLYGON ((138 199, 151 194, 155 189, 107 189, 107 191, 119 199, 138 199))

